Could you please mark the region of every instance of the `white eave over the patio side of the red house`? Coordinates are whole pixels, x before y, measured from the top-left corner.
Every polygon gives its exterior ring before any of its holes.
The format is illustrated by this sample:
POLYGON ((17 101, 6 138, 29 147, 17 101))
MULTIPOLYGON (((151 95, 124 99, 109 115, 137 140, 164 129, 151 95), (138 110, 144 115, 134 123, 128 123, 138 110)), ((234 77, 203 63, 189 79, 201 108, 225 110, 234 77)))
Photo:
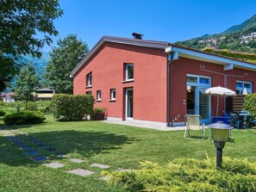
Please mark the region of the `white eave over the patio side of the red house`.
POLYGON ((200 51, 191 50, 190 48, 185 48, 185 47, 180 47, 175 45, 166 47, 165 53, 176 53, 176 54, 178 53, 178 57, 196 59, 196 60, 223 65, 223 68, 225 71, 232 70, 234 69, 234 67, 249 70, 249 71, 256 71, 256 65, 252 63, 247 63, 247 62, 243 62, 236 59, 228 59, 222 56, 217 56, 210 53, 203 53, 200 51))

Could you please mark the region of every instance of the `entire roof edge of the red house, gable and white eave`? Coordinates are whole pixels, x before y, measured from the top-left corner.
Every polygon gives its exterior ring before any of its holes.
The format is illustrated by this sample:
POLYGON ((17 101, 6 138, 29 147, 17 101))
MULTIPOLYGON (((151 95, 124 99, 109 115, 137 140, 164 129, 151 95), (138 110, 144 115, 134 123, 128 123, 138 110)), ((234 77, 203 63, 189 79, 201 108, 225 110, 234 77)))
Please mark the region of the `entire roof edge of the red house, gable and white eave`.
POLYGON ((91 49, 89 53, 84 56, 77 66, 71 71, 70 77, 73 77, 83 66, 84 64, 91 59, 94 53, 103 46, 105 42, 113 42, 124 45, 131 46, 144 46, 150 48, 164 49, 165 53, 178 53, 181 57, 189 58, 189 59, 197 59, 206 62, 212 62, 219 65, 224 65, 224 68, 227 67, 226 70, 233 69, 233 67, 247 69, 250 71, 256 71, 256 65, 253 63, 249 63, 246 61, 241 61, 238 59, 228 58, 222 55, 218 55, 215 53, 206 53, 203 51, 198 51, 197 49, 193 49, 186 46, 180 46, 178 44, 171 44, 165 41, 156 41, 156 40, 140 40, 140 39, 131 39, 131 38, 121 38, 121 37, 113 37, 113 36, 103 36, 97 44, 91 49))

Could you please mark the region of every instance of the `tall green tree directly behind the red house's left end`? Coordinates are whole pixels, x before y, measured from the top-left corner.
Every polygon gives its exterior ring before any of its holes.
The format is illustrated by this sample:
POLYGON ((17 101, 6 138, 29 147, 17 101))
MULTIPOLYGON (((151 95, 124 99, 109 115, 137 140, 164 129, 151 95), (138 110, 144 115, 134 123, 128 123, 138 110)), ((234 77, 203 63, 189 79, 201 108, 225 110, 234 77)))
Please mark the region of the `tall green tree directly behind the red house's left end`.
POLYGON ((88 53, 88 46, 78 40, 75 34, 68 34, 63 40, 58 40, 57 45, 50 53, 51 59, 47 63, 45 76, 56 93, 72 94, 70 73, 88 53))

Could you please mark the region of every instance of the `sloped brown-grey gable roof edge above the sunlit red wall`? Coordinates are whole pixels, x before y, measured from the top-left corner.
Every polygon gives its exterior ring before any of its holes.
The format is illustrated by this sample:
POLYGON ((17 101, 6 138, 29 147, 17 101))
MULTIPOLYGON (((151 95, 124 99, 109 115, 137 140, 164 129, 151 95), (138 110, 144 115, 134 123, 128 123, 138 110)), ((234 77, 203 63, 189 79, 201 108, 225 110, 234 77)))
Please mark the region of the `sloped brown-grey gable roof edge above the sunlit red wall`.
POLYGON ((167 46, 170 46, 171 44, 165 41, 156 41, 156 40, 139 40, 139 39, 130 39, 130 38, 121 38, 121 37, 112 37, 112 36, 103 36, 102 39, 100 39, 96 46, 94 46, 89 53, 87 53, 84 56, 84 59, 82 59, 78 65, 72 70, 70 77, 73 77, 88 61, 91 59, 91 57, 94 55, 94 53, 97 52, 97 50, 103 46, 104 42, 113 42, 113 43, 120 43, 125 45, 131 45, 131 46, 145 46, 150 48, 157 48, 157 49, 163 49, 167 46))

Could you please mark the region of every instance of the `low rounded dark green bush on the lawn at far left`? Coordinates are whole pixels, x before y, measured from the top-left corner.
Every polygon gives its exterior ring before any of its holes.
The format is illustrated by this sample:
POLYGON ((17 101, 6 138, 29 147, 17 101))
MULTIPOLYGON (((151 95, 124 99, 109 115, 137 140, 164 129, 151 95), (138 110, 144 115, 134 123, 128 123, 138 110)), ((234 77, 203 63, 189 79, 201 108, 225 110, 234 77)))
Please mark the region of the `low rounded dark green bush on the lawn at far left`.
POLYGON ((6 115, 3 118, 3 121, 7 126, 38 124, 38 123, 42 123, 45 120, 46 118, 43 115, 34 111, 24 111, 20 113, 14 113, 11 115, 6 115))

